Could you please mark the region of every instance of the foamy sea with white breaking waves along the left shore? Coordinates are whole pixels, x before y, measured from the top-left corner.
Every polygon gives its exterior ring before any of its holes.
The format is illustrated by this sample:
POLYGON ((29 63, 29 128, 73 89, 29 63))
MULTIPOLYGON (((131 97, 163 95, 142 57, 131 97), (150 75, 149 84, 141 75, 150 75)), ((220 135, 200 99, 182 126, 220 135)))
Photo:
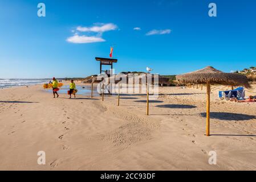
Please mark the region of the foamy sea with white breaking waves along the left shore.
POLYGON ((1 79, 0 78, 0 88, 10 88, 16 86, 29 86, 48 83, 51 79, 1 79))

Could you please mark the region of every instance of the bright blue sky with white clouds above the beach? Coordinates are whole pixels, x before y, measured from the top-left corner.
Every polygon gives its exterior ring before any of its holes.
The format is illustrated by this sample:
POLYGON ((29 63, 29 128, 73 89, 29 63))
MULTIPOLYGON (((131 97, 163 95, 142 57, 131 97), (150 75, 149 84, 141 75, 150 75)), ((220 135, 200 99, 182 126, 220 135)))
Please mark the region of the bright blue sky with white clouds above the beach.
POLYGON ((112 44, 116 73, 256 66, 255 7, 254 0, 1 0, 0 78, 98 74, 95 57, 108 57, 112 44), (46 17, 37 15, 39 2, 46 17), (208 15, 211 2, 217 17, 208 15))

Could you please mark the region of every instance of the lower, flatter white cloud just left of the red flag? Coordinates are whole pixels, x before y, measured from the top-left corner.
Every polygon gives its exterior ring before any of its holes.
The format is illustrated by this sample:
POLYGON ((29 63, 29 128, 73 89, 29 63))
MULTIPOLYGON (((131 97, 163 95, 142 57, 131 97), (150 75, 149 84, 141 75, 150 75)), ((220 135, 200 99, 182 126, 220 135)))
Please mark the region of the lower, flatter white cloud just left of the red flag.
POLYGON ((101 37, 96 37, 96 36, 74 35, 67 38, 67 42, 84 44, 84 43, 94 43, 94 42, 105 42, 105 40, 101 37))

